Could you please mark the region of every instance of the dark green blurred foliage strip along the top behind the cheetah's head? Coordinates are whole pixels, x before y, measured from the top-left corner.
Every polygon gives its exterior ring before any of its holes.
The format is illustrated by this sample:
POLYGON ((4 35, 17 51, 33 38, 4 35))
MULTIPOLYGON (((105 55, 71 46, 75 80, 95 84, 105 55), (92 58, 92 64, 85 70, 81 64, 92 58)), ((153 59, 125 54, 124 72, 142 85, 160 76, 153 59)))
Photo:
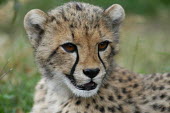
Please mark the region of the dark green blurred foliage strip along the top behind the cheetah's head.
MULTIPOLYGON (((161 8, 169 8, 169 0, 71 0, 91 3, 94 5, 107 8, 114 3, 121 4, 128 13, 134 14, 155 14, 161 8)), ((40 8, 45 11, 52 9, 70 0, 31 0, 23 7, 27 9, 40 8)))

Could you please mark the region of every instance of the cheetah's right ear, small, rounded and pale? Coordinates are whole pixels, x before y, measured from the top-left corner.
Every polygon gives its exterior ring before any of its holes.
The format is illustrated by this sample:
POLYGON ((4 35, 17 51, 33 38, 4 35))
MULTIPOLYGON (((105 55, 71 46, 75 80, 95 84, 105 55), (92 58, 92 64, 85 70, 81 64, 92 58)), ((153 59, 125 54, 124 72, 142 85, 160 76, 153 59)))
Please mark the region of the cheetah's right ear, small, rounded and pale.
POLYGON ((104 11, 104 14, 109 16, 113 24, 120 24, 125 18, 125 11, 119 4, 113 4, 104 11))

